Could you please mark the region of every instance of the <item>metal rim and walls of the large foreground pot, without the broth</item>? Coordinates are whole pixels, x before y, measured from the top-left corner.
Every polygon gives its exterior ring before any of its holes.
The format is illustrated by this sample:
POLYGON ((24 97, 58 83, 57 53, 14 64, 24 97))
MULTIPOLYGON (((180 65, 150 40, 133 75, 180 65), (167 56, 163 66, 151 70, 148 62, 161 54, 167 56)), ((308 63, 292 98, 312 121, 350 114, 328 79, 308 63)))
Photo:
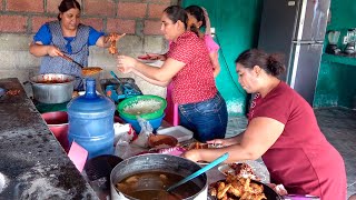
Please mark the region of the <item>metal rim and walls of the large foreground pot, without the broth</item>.
MULTIPOLYGON (((110 190, 111 190, 111 199, 112 200, 134 200, 135 198, 123 194, 119 189, 116 188, 116 184, 122 181, 125 178, 128 178, 134 174, 138 174, 141 172, 168 172, 174 174, 179 174, 181 177, 187 177, 195 171, 201 169, 199 164, 170 154, 159 154, 159 153, 148 153, 131 157, 121 161, 117 164, 110 174, 110 190)), ((132 190, 150 190, 151 184, 147 183, 149 181, 140 180, 139 188, 135 188, 132 190)), ((204 199, 206 200, 208 197, 208 182, 206 173, 195 178, 192 182, 199 188, 199 192, 191 193, 190 197, 186 198, 190 199, 204 199)), ((167 186, 169 187, 169 186, 167 186)))

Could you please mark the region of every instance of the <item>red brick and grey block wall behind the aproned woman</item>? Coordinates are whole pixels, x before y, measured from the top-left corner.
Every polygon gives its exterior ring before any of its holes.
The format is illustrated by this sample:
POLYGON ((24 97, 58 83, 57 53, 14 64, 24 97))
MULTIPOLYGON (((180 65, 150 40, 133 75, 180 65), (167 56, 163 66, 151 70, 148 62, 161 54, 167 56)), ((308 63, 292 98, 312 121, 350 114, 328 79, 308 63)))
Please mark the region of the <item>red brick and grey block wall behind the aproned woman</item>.
MULTIPOLYGON (((145 52, 167 51, 167 41, 160 33, 162 10, 177 4, 177 0, 78 0, 81 4, 81 22, 103 32, 127 33, 118 43, 119 52, 137 57, 145 52)), ((57 19, 61 0, 0 0, 0 79, 16 77, 21 82, 37 74, 40 58, 29 53, 33 34, 47 21, 57 19)), ((159 66, 160 63, 156 63, 159 66)), ((166 96, 166 89, 152 86, 135 74, 120 74, 116 58, 107 49, 90 48, 90 67, 105 70, 100 79, 135 78, 144 93, 166 96)), ((31 94, 31 87, 26 90, 31 94)))

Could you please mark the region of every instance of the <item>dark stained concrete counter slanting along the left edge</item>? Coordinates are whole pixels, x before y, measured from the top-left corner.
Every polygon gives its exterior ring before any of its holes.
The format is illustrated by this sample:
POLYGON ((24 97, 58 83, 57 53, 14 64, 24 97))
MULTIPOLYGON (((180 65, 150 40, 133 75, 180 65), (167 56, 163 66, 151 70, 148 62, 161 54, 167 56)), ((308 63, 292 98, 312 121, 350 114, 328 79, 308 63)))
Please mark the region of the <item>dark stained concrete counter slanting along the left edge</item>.
POLYGON ((98 199, 19 80, 0 88, 0 199, 98 199))

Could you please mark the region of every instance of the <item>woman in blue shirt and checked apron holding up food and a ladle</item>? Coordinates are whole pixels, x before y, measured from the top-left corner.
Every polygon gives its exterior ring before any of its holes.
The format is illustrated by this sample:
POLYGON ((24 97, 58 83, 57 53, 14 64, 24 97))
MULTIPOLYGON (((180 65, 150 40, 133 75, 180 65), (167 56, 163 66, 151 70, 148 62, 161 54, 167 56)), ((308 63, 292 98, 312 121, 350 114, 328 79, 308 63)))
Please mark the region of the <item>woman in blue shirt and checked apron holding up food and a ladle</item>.
POLYGON ((88 66, 89 46, 108 48, 121 36, 103 36, 80 22, 80 4, 77 0, 62 0, 58 7, 58 21, 44 23, 33 37, 30 53, 43 57, 40 73, 65 73, 77 78, 76 90, 82 89, 81 69, 60 56, 67 54, 82 66, 88 66))

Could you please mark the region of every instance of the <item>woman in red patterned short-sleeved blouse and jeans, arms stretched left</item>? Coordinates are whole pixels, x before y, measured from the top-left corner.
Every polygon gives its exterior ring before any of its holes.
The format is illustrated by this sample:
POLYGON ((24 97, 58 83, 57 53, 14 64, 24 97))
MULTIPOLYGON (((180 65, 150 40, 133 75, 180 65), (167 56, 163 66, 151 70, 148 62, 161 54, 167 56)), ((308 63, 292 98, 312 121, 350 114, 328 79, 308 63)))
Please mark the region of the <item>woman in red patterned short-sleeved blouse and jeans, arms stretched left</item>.
POLYGON ((168 86, 172 81, 172 100, 179 104, 180 124, 194 131, 195 138, 202 142, 225 138, 226 102, 215 86, 212 64, 204 40, 187 31, 188 16, 178 6, 166 8, 161 21, 161 31, 171 41, 162 67, 147 66, 134 58, 119 56, 119 71, 132 71, 159 86, 168 86))

